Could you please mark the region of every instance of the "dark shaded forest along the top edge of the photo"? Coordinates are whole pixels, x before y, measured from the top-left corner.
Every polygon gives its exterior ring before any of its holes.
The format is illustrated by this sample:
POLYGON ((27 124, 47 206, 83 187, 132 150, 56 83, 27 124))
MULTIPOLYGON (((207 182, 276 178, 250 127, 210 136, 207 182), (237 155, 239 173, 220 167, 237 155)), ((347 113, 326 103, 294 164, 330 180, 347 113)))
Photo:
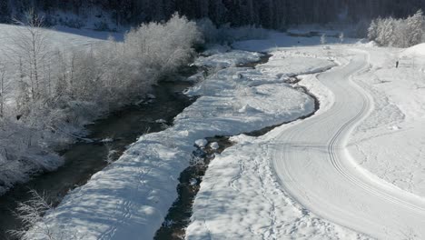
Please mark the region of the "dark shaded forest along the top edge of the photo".
POLYGON ((406 17, 423 9, 425 0, 3 0, 0 21, 21 15, 29 7, 46 15, 57 10, 92 15, 100 9, 110 13, 117 25, 163 21, 179 12, 189 19, 208 17, 216 25, 284 29, 289 25, 355 23, 378 16, 406 17))

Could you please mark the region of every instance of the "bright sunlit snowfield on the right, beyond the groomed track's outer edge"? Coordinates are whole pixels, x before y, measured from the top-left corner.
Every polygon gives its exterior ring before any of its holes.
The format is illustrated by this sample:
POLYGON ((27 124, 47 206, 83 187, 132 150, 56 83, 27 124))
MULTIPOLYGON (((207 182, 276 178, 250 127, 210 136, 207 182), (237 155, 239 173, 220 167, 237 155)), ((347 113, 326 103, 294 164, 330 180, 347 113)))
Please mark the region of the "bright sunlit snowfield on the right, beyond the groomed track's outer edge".
POLYGON ((353 135, 350 151, 372 174, 424 197, 425 45, 364 50, 371 57, 371 71, 357 80, 375 106, 353 135))

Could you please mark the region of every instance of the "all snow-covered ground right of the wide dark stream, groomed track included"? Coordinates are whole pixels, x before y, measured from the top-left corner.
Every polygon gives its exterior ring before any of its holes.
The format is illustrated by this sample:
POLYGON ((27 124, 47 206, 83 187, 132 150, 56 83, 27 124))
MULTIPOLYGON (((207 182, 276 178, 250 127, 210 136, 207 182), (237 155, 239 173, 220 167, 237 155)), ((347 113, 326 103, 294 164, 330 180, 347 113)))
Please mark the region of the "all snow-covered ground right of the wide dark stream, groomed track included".
POLYGON ((320 37, 272 33, 232 45, 272 53, 256 69, 234 65, 257 54, 214 50, 217 55, 197 65, 227 68, 187 91, 202 96, 175 125, 141 137, 67 195, 46 215, 46 225, 84 239, 151 239, 176 198, 177 178, 195 143, 236 135, 203 177, 187 239, 421 239, 425 47, 404 51, 338 41, 329 38, 331 45, 321 46, 320 37), (315 74, 335 63, 336 70, 315 74), (320 100, 316 115, 260 137, 239 135, 313 111, 310 96, 284 83, 293 75, 301 75, 299 85, 320 100))

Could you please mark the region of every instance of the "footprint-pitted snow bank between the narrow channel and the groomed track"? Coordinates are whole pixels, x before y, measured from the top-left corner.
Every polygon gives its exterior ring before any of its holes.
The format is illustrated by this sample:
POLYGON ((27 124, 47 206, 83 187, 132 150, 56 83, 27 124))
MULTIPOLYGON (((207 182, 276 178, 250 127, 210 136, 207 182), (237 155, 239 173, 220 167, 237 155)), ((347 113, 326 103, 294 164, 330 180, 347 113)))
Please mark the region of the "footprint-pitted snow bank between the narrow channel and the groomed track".
MULTIPOLYGON (((321 114, 333 103, 332 93, 315 75, 302 85, 319 96, 321 114)), ((238 135, 235 143, 216 155, 203 177, 193 205, 186 239, 368 239, 312 214, 282 190, 272 171, 273 138, 299 124, 282 125, 258 138, 238 135)))

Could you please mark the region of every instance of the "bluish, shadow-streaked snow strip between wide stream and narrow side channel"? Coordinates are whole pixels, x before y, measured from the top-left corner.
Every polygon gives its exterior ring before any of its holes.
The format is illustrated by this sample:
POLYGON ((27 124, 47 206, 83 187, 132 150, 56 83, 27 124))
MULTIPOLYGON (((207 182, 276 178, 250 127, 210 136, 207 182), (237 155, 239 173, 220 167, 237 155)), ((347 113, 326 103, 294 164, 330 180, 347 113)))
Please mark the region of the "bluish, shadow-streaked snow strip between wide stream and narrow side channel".
MULTIPOLYGON (((242 51, 226 55, 231 59, 217 58, 224 63, 247 63, 252 62, 252 55, 255 59, 260 56, 242 51)), ((187 95, 201 96, 175 118, 171 128, 143 135, 117 162, 67 195, 45 216, 47 228, 84 239, 152 239, 177 198, 178 177, 190 164, 194 145, 205 144, 200 139, 239 135, 314 111, 311 96, 283 83, 286 79, 282 75, 286 71, 311 73, 318 64, 325 68, 334 64, 305 58, 302 68, 297 65, 292 69, 291 61, 285 63, 288 66, 282 72, 265 65, 257 69, 229 67, 189 89, 187 95)), ((316 225, 315 221, 310 224, 316 225)), ((322 227, 313 228, 321 231, 322 227)), ((29 235, 43 237, 35 232, 29 235)))

